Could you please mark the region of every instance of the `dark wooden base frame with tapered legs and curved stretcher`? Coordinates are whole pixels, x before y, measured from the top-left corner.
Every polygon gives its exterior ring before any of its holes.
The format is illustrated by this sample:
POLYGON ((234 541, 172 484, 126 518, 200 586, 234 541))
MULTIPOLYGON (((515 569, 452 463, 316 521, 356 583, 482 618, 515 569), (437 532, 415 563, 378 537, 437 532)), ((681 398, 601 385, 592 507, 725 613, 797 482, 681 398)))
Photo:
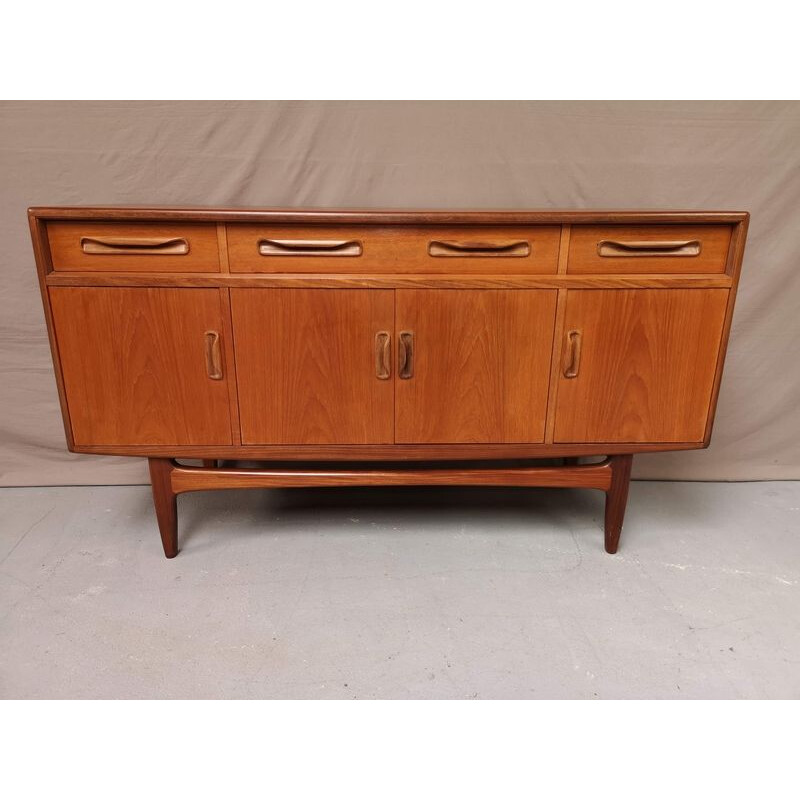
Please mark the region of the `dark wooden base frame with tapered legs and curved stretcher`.
POLYGON ((279 489, 304 486, 538 486, 599 489, 606 493, 605 549, 616 553, 628 501, 633 455, 613 455, 598 464, 505 468, 376 468, 368 469, 244 469, 187 467, 171 458, 149 458, 158 528, 164 555, 178 555, 176 498, 183 492, 211 489, 279 489))

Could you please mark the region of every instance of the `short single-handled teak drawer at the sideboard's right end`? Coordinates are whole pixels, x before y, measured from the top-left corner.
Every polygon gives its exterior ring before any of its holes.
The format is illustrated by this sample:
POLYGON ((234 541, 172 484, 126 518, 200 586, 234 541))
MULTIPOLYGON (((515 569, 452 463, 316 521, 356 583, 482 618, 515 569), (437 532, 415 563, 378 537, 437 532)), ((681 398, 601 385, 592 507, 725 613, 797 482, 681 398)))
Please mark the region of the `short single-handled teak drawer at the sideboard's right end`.
POLYGON ((567 272, 725 272, 729 225, 573 225, 567 272))

